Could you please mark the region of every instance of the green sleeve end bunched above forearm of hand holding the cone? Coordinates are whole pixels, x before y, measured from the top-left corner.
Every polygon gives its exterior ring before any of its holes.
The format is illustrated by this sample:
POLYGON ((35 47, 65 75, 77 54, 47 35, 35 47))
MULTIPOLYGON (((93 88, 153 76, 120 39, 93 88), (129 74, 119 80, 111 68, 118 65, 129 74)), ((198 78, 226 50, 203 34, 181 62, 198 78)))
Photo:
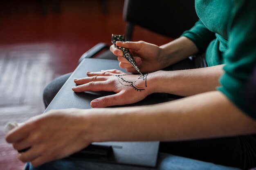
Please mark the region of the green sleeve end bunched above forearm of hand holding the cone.
POLYGON ((185 31, 181 36, 192 40, 200 53, 204 52, 209 43, 216 38, 215 33, 209 31, 201 20, 198 20, 190 30, 185 31))

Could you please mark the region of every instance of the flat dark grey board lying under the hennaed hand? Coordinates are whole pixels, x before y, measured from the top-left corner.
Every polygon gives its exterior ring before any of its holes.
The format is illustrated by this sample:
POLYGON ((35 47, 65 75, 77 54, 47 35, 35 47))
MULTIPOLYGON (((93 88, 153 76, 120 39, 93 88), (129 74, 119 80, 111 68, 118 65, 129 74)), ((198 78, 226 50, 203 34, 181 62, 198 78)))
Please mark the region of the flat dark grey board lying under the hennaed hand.
MULTIPOLYGON (((74 78, 87 77, 87 71, 100 71, 119 68, 119 62, 117 60, 104 60, 104 59, 93 59, 85 58, 76 70, 72 73, 67 82, 63 85, 61 90, 54 97, 52 102, 46 108, 45 112, 51 109, 63 109, 63 108, 83 108, 89 109, 90 102, 98 97, 110 95, 110 92, 86 92, 86 93, 74 93, 72 87, 76 86, 74 83, 74 78)), ((122 69, 120 69, 122 70, 122 69)), ((122 70, 124 71, 124 69, 122 70)), ((137 102, 135 104, 125 105, 125 106, 141 106, 148 104, 156 104, 167 101, 167 95, 164 93, 154 93, 149 95, 144 100, 137 102)), ((115 106, 114 106, 115 107, 115 106)), ((117 107, 117 106, 116 106, 117 107)), ((123 106, 118 106, 123 107, 123 106)), ((85 160, 96 160, 96 161, 106 161, 114 163, 125 163, 132 165, 141 166, 155 166, 158 154, 158 141, 149 142, 101 142, 92 143, 92 145, 100 145, 98 148, 88 148, 87 151, 82 150, 80 153, 76 153, 72 156, 75 159, 85 159, 85 160), (97 149, 112 148, 111 152, 106 150, 99 150, 97 154, 97 149)))

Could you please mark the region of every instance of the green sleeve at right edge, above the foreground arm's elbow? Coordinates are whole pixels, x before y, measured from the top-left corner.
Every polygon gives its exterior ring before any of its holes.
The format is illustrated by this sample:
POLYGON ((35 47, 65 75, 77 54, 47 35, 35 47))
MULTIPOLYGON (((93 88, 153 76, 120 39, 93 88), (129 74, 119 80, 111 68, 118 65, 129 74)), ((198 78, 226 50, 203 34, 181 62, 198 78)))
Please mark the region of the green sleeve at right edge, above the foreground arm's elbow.
POLYGON ((256 0, 234 0, 228 27, 227 64, 220 78, 224 93, 256 119, 256 0))

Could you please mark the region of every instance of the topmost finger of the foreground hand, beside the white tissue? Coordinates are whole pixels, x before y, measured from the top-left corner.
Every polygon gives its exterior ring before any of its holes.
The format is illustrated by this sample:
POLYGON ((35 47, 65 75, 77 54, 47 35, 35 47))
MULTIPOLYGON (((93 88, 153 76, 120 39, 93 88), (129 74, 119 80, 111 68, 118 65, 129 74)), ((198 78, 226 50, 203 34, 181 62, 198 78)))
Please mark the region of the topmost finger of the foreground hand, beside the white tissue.
POLYGON ((23 124, 7 133, 5 140, 9 143, 16 143, 26 138, 31 130, 30 124, 23 124))

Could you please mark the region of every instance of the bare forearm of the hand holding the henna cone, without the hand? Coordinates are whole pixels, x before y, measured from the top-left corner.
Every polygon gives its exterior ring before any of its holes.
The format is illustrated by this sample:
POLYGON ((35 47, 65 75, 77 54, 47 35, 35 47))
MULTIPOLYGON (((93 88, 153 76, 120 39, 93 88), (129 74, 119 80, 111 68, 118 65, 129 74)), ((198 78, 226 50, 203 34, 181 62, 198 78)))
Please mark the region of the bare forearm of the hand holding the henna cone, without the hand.
POLYGON ((161 49, 160 57, 165 66, 175 64, 198 53, 198 48, 186 37, 177 38, 176 40, 159 46, 159 48, 161 49))

